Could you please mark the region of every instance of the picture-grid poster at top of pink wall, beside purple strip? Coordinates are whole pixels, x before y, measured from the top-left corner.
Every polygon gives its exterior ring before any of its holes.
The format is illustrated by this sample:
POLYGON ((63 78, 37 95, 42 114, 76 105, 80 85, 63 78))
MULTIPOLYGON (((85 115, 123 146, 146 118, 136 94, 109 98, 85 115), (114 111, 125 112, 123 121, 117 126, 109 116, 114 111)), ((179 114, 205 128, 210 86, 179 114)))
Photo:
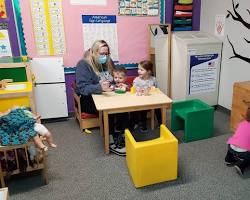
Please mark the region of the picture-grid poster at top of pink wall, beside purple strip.
POLYGON ((159 14, 159 0, 119 0, 119 15, 155 16, 159 14))

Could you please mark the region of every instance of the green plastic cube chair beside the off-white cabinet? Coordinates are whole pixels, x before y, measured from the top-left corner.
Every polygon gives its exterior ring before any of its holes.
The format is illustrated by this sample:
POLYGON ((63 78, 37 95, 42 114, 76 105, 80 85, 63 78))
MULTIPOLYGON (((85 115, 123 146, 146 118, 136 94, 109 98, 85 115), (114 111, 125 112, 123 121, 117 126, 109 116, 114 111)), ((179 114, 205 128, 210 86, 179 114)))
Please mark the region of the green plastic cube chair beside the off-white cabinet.
POLYGON ((199 99, 174 101, 171 130, 184 129, 184 141, 210 138, 214 129, 214 108, 199 99))

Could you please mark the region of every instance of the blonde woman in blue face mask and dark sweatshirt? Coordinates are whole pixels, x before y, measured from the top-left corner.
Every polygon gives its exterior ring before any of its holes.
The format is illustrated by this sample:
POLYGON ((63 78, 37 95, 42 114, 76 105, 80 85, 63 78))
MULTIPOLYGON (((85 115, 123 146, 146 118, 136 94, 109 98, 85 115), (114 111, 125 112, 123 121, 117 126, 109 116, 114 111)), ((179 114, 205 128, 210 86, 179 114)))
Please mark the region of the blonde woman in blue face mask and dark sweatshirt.
MULTIPOLYGON (((76 93, 81 95, 82 112, 98 115, 92 94, 112 91, 114 63, 110 48, 104 40, 97 40, 76 65, 76 93)), ((109 133, 114 135, 114 115, 109 115, 109 133)), ((124 154, 123 149, 119 149, 124 154)))

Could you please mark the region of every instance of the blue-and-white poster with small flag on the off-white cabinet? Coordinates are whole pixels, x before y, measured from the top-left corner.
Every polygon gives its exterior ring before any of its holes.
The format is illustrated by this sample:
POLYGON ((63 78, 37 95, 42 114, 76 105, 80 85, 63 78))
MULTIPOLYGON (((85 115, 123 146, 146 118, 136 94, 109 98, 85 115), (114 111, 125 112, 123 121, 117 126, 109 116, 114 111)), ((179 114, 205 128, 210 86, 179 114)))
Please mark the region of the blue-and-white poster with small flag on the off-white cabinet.
POLYGON ((189 95, 216 91, 218 54, 190 56, 189 95))

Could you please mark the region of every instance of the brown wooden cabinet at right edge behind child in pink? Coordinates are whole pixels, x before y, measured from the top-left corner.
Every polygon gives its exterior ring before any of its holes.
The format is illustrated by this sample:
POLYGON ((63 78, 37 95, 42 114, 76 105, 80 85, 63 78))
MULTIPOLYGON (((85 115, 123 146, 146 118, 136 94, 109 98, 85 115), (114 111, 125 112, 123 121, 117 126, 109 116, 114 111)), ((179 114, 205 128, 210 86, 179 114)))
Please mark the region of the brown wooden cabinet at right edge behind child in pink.
POLYGON ((235 130, 250 106, 250 81, 237 82, 233 88, 233 101, 230 117, 230 128, 235 130))

